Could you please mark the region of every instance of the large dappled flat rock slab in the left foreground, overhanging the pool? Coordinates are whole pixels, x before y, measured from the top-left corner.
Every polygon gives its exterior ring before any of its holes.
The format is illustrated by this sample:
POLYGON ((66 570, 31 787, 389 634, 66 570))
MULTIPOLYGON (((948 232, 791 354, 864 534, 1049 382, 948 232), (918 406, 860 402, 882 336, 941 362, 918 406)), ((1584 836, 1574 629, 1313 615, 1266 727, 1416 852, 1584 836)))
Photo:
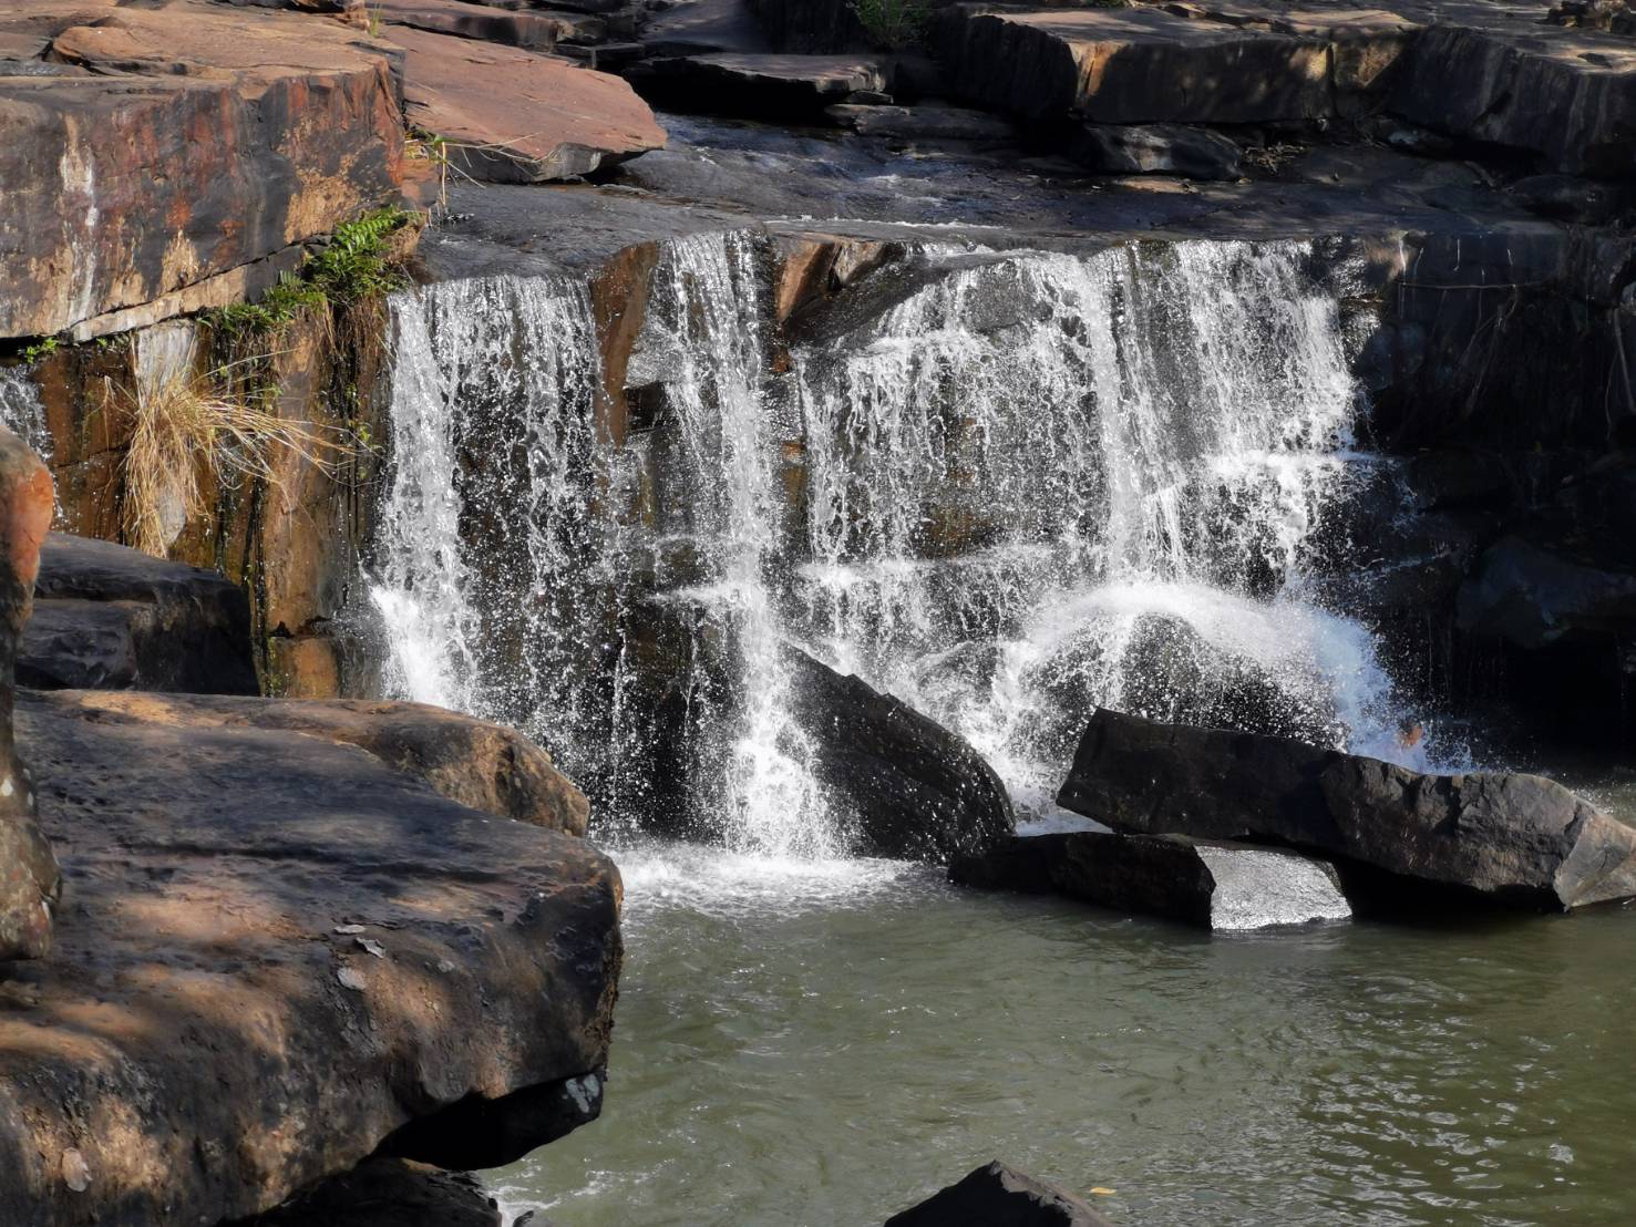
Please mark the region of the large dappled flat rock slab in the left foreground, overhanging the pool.
POLYGON ((52 957, 0 980, 0 1222, 216 1224, 383 1142, 510 1162, 596 1114, 596 849, 312 736, 72 694, 16 725, 67 893, 52 957))

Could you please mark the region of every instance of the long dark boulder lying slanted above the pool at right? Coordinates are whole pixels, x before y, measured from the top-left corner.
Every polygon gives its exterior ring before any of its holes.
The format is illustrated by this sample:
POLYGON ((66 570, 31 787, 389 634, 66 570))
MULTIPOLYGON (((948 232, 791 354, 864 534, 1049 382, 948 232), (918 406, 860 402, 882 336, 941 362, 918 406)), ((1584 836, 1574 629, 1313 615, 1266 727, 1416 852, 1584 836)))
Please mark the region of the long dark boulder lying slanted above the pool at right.
POLYGON ((1279 843, 1503 905, 1636 895, 1636 829, 1538 775, 1425 775, 1103 708, 1057 800, 1119 831, 1279 843))

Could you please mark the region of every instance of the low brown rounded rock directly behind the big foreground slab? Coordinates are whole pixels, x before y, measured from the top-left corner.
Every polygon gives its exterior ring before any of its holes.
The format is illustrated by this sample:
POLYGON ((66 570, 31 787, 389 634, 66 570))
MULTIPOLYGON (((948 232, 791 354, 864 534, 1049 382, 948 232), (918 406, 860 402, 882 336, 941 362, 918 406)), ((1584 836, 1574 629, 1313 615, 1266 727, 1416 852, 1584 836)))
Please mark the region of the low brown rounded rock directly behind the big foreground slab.
POLYGON ((550 831, 582 836, 591 805, 528 738, 427 703, 380 699, 226 699, 82 694, 87 712, 167 728, 288 730, 366 749, 453 802, 550 831))

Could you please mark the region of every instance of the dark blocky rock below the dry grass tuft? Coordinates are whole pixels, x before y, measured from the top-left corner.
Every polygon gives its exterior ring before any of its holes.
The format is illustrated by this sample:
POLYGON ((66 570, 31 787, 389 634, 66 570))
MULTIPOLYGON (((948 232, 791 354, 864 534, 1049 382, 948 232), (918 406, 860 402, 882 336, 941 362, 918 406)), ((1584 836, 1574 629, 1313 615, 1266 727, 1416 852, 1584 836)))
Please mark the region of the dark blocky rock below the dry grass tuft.
POLYGON ((36 602, 23 685, 258 694, 249 599, 214 571, 51 533, 36 602))

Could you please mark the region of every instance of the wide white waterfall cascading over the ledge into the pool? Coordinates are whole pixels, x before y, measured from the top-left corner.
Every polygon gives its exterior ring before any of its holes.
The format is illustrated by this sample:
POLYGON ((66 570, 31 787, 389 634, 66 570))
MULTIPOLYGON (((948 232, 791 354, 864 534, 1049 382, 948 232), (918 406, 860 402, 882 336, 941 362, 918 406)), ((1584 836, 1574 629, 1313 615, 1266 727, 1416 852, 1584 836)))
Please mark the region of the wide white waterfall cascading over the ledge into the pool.
POLYGON ((1309 245, 924 249, 787 350, 771 260, 664 244, 620 389, 582 283, 394 296, 394 694, 525 728, 604 829, 753 854, 846 847, 785 643, 1036 811, 1098 703, 1392 748, 1373 638, 1310 566, 1369 461, 1309 245))

